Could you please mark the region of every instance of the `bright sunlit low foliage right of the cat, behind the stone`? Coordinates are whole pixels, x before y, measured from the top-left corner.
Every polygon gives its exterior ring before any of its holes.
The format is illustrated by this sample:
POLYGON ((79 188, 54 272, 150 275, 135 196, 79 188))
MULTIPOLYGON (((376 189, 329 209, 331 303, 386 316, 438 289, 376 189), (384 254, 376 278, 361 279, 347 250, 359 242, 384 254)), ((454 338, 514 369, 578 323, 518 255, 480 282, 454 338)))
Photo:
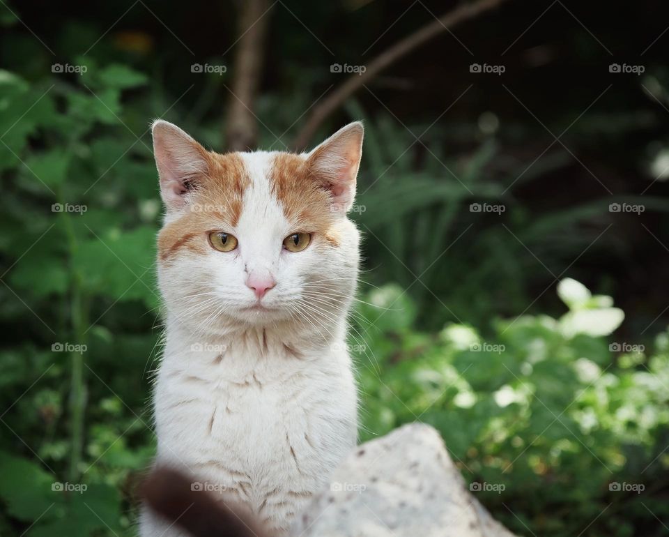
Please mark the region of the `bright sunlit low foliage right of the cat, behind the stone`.
POLYGON ((651 354, 609 344, 622 322, 610 297, 574 280, 558 292, 570 308, 560 319, 500 319, 490 338, 463 324, 417 333, 399 287, 371 292, 369 324, 351 346, 362 439, 433 425, 468 481, 489 485, 477 492, 484 504, 518 534, 570 536, 593 522, 592 535, 633 535, 645 527, 648 492, 666 487, 669 334, 651 354))

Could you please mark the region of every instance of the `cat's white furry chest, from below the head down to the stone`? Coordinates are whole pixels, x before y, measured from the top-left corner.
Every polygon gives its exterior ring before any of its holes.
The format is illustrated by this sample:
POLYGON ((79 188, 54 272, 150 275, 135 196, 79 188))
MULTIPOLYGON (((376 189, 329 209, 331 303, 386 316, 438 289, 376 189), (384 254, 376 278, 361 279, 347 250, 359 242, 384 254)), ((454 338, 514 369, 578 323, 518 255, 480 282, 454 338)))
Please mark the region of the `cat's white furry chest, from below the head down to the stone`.
POLYGON ((165 356, 155 391, 158 460, 186 467, 198 486, 263 520, 289 520, 355 446, 351 365, 337 351, 245 358, 165 356))

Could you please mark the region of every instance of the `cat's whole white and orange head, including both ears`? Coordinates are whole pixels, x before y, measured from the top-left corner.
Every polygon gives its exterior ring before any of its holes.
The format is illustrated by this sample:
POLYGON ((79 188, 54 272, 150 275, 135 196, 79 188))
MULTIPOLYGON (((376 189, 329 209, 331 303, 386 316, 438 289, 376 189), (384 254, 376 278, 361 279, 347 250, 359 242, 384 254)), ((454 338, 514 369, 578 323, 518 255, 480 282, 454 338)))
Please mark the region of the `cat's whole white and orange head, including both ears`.
POLYGON ((220 154, 155 121, 159 279, 174 320, 210 333, 337 324, 357 280, 360 239, 346 213, 362 135, 356 122, 309 153, 220 154))

